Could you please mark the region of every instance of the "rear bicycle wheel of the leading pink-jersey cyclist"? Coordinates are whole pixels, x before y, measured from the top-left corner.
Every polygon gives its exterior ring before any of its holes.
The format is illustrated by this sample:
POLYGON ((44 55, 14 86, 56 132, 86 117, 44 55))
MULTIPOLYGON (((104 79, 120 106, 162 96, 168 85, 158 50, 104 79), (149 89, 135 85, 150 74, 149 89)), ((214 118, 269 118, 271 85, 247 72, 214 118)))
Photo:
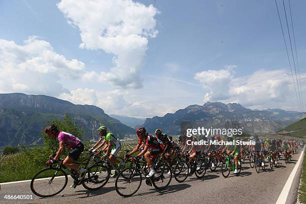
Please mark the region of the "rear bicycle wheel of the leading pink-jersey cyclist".
POLYGON ((96 190, 103 187, 110 176, 110 169, 103 163, 95 163, 87 168, 87 175, 84 177, 82 185, 88 190, 96 190))

